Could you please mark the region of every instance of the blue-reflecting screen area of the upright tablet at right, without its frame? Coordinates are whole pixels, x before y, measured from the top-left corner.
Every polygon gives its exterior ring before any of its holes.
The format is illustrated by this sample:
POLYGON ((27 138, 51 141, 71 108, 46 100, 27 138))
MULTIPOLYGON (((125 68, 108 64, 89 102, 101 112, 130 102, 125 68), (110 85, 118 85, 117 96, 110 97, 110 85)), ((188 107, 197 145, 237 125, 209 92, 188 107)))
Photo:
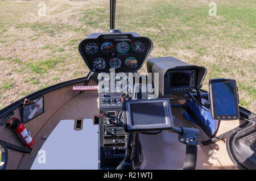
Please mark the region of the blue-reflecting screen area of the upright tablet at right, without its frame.
POLYGON ((214 107, 216 115, 237 115, 237 96, 234 82, 214 82, 214 107))

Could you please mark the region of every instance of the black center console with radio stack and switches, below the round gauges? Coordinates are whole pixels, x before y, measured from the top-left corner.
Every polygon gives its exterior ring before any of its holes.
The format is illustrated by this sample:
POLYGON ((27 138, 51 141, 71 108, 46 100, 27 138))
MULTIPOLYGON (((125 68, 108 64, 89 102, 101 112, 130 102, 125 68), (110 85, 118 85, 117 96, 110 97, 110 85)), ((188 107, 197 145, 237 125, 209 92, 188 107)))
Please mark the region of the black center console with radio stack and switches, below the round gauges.
MULTIPOLYGON (((122 111, 122 93, 122 91, 110 92, 110 89, 109 91, 99 92, 99 169, 115 169, 125 157, 127 133, 123 130, 119 117, 122 111)), ((135 166, 138 166, 138 136, 136 137, 133 154, 135 166)))

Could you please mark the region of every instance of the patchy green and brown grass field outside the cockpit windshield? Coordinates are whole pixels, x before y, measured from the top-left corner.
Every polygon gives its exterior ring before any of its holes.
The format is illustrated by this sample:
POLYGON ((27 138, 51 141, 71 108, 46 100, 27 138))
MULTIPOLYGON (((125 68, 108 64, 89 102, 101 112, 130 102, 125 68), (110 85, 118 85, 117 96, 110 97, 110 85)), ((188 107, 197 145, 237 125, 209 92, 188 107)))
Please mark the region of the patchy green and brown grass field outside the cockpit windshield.
MULTIPOLYGON (((117 1, 115 28, 154 44, 150 57, 173 56, 237 80, 240 104, 256 111, 256 1, 117 1), (210 2, 217 5, 209 16, 210 2)), ((108 32, 109 1, 0 1, 0 110, 34 91, 85 77, 78 45, 108 32), (39 16, 39 2, 46 16, 39 16)), ((146 72, 146 64, 139 71, 146 72)))

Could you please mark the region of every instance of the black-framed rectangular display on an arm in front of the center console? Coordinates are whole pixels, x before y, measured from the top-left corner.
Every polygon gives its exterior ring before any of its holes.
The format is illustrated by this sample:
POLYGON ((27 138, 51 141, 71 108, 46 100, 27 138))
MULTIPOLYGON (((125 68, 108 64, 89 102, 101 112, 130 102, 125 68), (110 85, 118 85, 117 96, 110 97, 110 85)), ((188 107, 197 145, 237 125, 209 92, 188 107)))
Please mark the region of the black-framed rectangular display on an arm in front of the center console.
POLYGON ((171 129, 173 123, 170 100, 123 101, 123 127, 126 132, 171 129))

